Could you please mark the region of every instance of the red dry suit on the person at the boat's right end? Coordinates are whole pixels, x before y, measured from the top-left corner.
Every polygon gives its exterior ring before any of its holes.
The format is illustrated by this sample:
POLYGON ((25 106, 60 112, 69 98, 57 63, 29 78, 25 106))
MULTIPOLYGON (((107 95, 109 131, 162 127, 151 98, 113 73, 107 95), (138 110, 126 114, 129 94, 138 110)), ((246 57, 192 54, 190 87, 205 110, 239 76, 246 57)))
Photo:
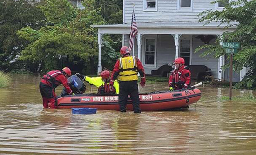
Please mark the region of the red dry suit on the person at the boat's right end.
POLYGON ((174 69, 172 75, 169 77, 169 87, 173 89, 182 89, 184 84, 190 84, 190 71, 184 69, 184 65, 181 65, 178 69, 174 69))

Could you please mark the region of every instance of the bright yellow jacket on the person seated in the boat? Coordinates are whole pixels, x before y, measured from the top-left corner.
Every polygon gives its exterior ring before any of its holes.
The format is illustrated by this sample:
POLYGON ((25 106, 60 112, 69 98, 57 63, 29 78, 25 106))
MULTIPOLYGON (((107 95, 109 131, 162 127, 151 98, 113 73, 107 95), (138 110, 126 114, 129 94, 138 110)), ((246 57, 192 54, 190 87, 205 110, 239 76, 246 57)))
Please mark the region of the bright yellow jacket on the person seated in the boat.
MULTIPOLYGON (((101 77, 91 78, 91 77, 85 76, 84 81, 88 82, 91 85, 97 86, 97 88, 99 88, 102 85, 104 86, 104 82, 102 81, 101 77)), ((109 84, 109 82, 107 84, 109 84)), ((113 86, 115 87, 115 94, 119 94, 119 84, 117 80, 114 81, 113 86)))

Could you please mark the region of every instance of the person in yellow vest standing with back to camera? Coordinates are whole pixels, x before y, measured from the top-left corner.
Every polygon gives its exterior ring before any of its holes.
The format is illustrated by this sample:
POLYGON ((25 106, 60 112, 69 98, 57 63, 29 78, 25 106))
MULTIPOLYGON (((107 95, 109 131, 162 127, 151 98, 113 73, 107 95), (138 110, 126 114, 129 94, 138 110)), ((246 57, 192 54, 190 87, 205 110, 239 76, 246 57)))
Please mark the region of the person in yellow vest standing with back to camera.
POLYGON ((128 47, 120 49, 121 57, 116 61, 110 80, 110 90, 115 79, 119 82, 119 108, 121 112, 126 112, 128 95, 132 100, 133 112, 141 113, 140 98, 138 91, 138 72, 141 75, 140 85, 143 87, 146 83, 146 75, 141 61, 135 56, 130 56, 128 47))

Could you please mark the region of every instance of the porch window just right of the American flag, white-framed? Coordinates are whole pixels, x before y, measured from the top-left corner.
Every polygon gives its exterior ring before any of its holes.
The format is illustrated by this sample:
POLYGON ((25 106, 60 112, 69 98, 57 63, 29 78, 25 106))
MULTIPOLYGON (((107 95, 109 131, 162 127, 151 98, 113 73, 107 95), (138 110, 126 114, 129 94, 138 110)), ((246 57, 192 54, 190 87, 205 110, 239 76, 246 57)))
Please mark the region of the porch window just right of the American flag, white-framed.
POLYGON ((144 65, 155 67, 156 65, 156 39, 146 38, 145 53, 144 53, 144 65))

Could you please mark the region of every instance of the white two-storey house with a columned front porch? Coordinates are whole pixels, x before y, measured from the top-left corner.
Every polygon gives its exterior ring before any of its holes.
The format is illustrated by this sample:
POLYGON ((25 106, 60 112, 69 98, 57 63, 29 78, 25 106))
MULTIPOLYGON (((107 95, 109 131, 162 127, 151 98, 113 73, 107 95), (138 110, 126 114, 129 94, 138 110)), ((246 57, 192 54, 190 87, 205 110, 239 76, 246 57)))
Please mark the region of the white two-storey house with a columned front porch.
MULTIPOLYGON (((214 78, 229 81, 229 71, 222 71, 224 56, 219 59, 202 58, 194 53, 195 48, 205 43, 214 44, 216 36, 221 35, 224 26, 211 23, 203 26, 198 23, 198 13, 212 9, 223 9, 224 3, 210 4, 213 0, 123 0, 123 24, 92 25, 98 28, 99 62, 101 71, 101 44, 103 34, 123 34, 123 45, 129 44, 132 10, 138 27, 135 55, 144 65, 146 74, 164 64, 173 62, 176 57, 183 57, 185 65, 206 65, 212 70, 214 78)), ((235 28, 228 29, 233 31, 235 28)), ((240 81, 245 69, 234 72, 232 81, 240 81)))

